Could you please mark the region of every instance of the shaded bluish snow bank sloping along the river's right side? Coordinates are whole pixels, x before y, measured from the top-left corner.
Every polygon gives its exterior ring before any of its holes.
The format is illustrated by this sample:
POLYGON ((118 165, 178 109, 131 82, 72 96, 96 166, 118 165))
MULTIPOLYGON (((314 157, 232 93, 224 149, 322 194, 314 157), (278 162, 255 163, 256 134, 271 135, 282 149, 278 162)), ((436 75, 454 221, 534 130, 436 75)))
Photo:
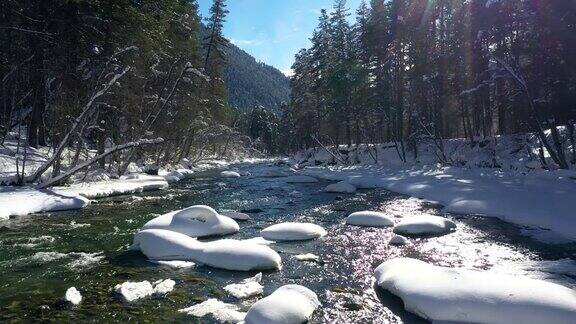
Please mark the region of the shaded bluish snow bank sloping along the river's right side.
POLYGON ((307 168, 303 173, 425 199, 444 205, 447 212, 497 217, 552 232, 535 239, 576 241, 576 182, 563 172, 555 177, 458 167, 353 166, 307 168))

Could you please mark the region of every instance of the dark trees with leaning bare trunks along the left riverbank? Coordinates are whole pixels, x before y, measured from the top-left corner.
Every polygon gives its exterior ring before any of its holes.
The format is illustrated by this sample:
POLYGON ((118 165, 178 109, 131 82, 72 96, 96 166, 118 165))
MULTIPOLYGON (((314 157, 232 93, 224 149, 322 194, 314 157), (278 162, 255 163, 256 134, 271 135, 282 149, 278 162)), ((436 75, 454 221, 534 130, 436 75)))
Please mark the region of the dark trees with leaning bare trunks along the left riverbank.
POLYGON ((194 0, 1 1, 0 140, 52 147, 21 182, 58 175, 65 150, 119 174, 228 154, 243 137, 229 127, 224 1, 210 13, 201 37, 194 0))

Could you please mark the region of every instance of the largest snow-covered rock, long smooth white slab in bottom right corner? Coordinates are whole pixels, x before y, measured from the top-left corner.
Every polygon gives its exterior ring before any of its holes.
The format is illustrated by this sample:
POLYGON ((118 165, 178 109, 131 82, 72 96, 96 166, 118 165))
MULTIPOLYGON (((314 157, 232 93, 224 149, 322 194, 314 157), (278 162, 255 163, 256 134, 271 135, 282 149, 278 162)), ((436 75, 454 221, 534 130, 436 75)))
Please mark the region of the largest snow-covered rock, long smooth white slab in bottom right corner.
POLYGON ((576 292, 542 280, 408 258, 382 263, 374 276, 407 311, 432 322, 574 323, 576 318, 576 292))

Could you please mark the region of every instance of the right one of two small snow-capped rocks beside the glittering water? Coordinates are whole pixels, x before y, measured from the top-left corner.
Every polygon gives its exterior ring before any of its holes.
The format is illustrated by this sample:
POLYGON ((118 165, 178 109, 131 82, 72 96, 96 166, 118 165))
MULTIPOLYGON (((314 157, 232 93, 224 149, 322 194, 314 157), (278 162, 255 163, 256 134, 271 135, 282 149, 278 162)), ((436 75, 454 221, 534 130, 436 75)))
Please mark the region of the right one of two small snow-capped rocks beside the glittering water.
POLYGON ((394 233, 405 235, 446 234, 456 228, 456 224, 444 217, 423 215, 406 217, 396 226, 394 233))

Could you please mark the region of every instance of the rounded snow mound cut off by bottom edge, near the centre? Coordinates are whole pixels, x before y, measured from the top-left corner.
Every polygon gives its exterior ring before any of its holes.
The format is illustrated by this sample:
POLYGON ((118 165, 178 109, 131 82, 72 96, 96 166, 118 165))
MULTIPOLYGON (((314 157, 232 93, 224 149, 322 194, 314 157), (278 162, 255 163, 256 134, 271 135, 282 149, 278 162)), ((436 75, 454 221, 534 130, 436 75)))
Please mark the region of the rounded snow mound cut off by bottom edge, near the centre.
POLYGON ((305 323, 320 305, 312 290, 286 285, 252 305, 245 321, 246 324, 305 323))

